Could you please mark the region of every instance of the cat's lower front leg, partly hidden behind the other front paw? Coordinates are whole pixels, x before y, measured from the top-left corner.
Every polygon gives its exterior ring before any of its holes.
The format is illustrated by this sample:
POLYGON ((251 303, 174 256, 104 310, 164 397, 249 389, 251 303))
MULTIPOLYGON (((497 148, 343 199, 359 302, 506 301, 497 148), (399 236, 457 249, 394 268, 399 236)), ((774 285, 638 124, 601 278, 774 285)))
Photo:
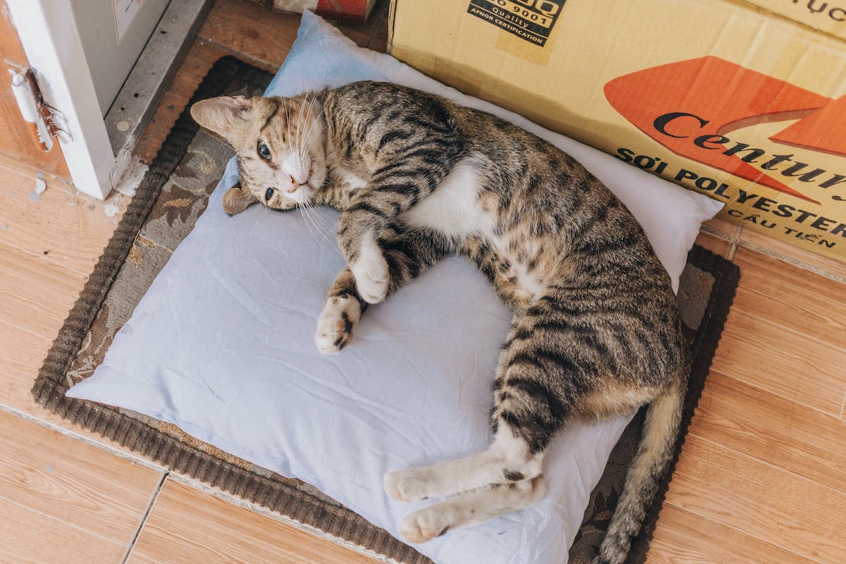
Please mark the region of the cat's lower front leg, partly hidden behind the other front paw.
MULTIPOLYGON (((425 230, 405 230, 396 224, 383 228, 376 241, 387 265, 387 292, 394 293, 420 272, 452 252, 448 242, 425 230)), ((317 320, 315 343, 324 354, 336 354, 349 344, 355 325, 367 308, 353 271, 344 268, 327 294, 317 320)))

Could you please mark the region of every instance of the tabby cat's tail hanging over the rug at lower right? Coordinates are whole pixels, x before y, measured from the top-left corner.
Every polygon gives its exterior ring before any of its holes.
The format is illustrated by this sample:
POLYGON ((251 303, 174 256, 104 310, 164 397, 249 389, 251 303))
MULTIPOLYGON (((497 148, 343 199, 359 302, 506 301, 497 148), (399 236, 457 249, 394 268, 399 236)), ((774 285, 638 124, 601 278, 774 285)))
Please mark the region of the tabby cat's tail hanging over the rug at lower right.
POLYGON ((673 461, 687 388, 686 364, 684 375, 656 397, 646 411, 638 452, 626 474, 623 495, 593 564, 624 564, 632 539, 640 533, 658 485, 673 461))

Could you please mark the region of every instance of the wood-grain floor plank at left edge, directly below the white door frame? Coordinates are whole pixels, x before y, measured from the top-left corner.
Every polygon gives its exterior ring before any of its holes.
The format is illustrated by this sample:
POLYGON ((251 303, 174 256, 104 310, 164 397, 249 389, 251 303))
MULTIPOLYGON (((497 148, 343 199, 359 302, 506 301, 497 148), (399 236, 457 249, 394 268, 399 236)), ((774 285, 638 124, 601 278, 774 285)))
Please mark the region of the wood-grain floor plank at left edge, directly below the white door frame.
POLYGON ((0 163, 0 175, 0 242, 81 275, 93 271, 129 199, 113 194, 104 203, 49 179, 47 190, 34 195, 34 174, 0 163), (108 216, 106 204, 117 205, 117 213, 108 216))

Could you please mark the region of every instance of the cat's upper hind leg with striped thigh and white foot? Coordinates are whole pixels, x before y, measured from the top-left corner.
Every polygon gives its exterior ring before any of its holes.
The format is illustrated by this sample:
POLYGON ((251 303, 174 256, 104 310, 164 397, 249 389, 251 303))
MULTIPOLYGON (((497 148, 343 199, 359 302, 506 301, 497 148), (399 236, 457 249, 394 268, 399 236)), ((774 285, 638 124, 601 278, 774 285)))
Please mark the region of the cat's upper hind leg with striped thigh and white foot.
MULTIPOLYGON (((469 457, 386 474, 388 495, 419 501, 540 475, 552 436, 583 418, 580 402, 608 370, 602 342, 585 347, 596 336, 569 326, 568 315, 567 304, 554 297, 519 309, 497 365, 491 446, 469 457)), ((625 402, 609 406, 602 419, 631 408, 625 402)))

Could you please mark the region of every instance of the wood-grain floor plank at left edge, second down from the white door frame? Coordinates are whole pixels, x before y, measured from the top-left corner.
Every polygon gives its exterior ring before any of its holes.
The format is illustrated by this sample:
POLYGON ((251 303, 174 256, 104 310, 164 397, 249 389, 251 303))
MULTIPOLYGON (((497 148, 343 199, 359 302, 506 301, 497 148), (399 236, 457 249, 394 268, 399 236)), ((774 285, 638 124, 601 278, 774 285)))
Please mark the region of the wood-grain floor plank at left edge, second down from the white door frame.
POLYGON ((56 337, 85 276, 0 242, 0 319, 56 337))

